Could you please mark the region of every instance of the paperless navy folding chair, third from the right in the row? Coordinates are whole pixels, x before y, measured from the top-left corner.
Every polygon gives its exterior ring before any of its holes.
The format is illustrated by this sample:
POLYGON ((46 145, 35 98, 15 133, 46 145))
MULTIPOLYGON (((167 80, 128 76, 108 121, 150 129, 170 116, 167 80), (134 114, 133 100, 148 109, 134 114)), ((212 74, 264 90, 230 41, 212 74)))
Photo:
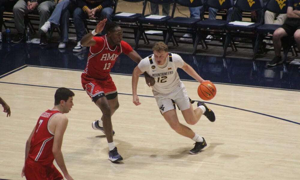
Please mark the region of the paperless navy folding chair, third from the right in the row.
MULTIPOLYGON (((233 0, 224 0, 224 1, 206 0, 205 7, 211 7, 215 9, 229 9, 233 7, 233 0)), ((220 20, 220 19, 204 19, 202 21, 196 22, 195 26, 197 28, 197 34, 196 34, 193 54, 196 53, 197 45, 199 44, 199 41, 202 44, 202 48, 203 48, 203 43, 205 44, 206 49, 208 48, 206 42, 203 41, 203 39, 207 35, 218 35, 222 37, 223 46, 224 46, 224 41, 226 39, 225 27, 228 23, 229 21, 220 20)))

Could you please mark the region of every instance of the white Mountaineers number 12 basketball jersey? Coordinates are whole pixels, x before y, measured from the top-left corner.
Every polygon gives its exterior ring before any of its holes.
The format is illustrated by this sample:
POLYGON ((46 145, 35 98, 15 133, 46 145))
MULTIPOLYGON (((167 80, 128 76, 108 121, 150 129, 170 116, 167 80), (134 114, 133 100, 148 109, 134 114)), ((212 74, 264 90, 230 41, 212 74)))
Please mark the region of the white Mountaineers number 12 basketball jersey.
POLYGON ((151 86, 154 95, 158 93, 169 94, 178 87, 184 87, 179 79, 177 68, 183 66, 182 58, 175 53, 169 53, 166 60, 167 66, 164 68, 158 67, 155 62, 154 55, 150 55, 140 61, 138 67, 141 71, 147 72, 155 79, 155 85, 151 86))

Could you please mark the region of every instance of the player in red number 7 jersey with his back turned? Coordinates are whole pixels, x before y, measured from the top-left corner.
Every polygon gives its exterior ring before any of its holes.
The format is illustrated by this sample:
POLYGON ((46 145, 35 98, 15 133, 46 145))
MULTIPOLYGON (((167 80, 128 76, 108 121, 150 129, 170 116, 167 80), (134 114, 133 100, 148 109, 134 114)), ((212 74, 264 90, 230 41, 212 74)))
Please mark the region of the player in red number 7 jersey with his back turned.
POLYGON ((67 88, 58 88, 55 92, 54 107, 45 111, 38 119, 30 134, 25 149, 25 164, 21 176, 30 180, 73 180, 69 175, 61 152, 64 131, 73 104, 74 93, 67 88), (56 169, 56 161, 64 177, 56 169))

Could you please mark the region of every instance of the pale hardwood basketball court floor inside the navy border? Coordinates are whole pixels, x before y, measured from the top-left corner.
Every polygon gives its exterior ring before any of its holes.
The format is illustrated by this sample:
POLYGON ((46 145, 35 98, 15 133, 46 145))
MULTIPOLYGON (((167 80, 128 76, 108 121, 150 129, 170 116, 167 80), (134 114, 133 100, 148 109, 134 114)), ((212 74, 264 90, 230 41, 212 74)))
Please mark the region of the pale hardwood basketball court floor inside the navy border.
MULTIPOLYGON (((91 123, 101 111, 82 90, 82 70, 23 66, 0 76, 2 97, 11 117, 0 113, 0 178, 21 178, 25 144, 38 117, 54 104, 59 87, 74 93, 66 114, 69 124, 62 152, 74 179, 299 179, 300 93, 297 90, 214 83, 217 95, 205 101, 216 114, 202 116, 196 125, 180 122, 204 137, 208 146, 197 155, 188 152, 193 141, 176 134, 159 113, 143 77, 132 103, 131 76, 112 74, 120 107, 113 115, 114 142, 124 160, 111 163, 107 140, 91 123)), ((198 82, 184 81, 192 100, 199 101, 198 82)), ((196 104, 193 104, 196 107, 196 104)), ((58 168, 59 169, 59 168, 58 168)))

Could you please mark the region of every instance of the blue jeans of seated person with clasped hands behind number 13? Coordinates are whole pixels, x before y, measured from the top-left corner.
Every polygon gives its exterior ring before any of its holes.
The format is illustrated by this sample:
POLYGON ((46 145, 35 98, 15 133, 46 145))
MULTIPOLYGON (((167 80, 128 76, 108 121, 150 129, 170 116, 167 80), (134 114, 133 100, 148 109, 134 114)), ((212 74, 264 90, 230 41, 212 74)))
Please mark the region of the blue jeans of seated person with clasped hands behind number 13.
MULTIPOLYGON (((88 8, 92 9, 91 7, 88 8)), ((95 17, 98 17, 100 19, 107 18, 107 21, 112 21, 112 15, 113 15, 113 8, 105 7, 100 11, 100 13, 97 13, 95 17)), ((88 19, 88 15, 84 13, 80 7, 77 7, 73 12, 73 19, 74 19, 74 27, 76 30, 76 39, 77 42, 79 42, 83 38, 83 36, 86 35, 85 28, 84 28, 84 20, 88 19)), ((101 34, 105 35, 106 32, 107 31, 104 27, 101 34)))

